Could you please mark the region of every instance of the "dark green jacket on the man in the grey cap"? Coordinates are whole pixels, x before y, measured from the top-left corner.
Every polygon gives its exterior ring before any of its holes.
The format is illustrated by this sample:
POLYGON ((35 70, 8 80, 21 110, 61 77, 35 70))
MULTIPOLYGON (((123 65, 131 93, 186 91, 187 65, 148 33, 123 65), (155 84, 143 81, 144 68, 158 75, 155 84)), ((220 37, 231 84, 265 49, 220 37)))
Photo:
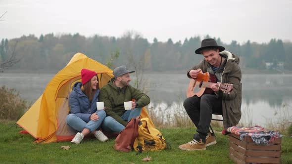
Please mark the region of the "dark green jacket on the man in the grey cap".
POLYGON ((150 103, 150 98, 131 85, 119 88, 113 84, 113 81, 114 79, 111 79, 100 89, 98 100, 104 102, 106 116, 110 116, 126 126, 127 121, 121 118, 126 112, 124 102, 135 99, 138 107, 144 107, 150 103))

